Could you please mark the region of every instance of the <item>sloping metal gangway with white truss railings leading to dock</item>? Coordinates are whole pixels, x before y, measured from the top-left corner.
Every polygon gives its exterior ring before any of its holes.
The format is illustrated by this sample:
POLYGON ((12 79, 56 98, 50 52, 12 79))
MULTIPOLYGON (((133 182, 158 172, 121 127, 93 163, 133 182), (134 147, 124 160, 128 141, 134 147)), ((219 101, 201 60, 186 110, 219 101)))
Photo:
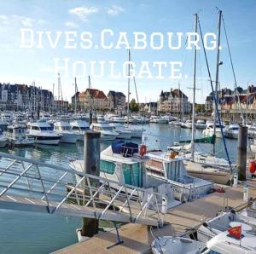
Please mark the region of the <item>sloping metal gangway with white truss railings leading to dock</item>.
POLYGON ((162 223, 162 194, 153 188, 134 187, 9 153, 0 153, 0 165, 0 209, 154 226, 162 223), (139 193, 136 199, 135 193, 139 193))

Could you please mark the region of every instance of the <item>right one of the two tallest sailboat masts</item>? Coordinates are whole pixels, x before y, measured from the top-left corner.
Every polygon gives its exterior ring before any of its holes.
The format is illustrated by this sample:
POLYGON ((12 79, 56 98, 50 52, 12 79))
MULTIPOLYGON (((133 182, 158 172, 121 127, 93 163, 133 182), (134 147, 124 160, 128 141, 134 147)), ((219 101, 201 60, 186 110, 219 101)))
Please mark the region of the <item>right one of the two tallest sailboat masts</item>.
MULTIPOLYGON (((219 66, 219 46, 220 46, 220 28, 221 28, 221 15, 222 11, 218 11, 218 45, 217 45, 217 63, 216 63, 216 78, 215 78, 215 99, 216 99, 216 104, 214 105, 214 127, 213 127, 213 135, 216 136, 216 121, 217 121, 217 111, 218 109, 218 66, 219 66), (217 105, 217 106, 215 106, 217 105)), ((221 123, 218 123, 221 124, 221 123)), ((216 147, 215 147, 215 142, 213 143, 213 154, 216 153, 216 147)))

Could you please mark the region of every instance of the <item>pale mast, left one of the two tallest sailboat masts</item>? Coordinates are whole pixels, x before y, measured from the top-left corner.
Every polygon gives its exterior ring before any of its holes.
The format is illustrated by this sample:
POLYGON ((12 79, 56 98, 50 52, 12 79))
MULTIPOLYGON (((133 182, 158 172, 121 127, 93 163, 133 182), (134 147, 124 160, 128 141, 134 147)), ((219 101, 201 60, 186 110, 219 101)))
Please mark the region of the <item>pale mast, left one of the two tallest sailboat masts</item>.
MULTIPOLYGON (((195 37, 197 37, 197 14, 195 14, 195 37)), ((196 38, 195 38, 196 39, 196 38)), ((193 108, 192 108, 192 137, 191 137, 191 159, 195 155, 195 78, 196 78, 196 47, 194 46, 194 84, 193 84, 193 108)))

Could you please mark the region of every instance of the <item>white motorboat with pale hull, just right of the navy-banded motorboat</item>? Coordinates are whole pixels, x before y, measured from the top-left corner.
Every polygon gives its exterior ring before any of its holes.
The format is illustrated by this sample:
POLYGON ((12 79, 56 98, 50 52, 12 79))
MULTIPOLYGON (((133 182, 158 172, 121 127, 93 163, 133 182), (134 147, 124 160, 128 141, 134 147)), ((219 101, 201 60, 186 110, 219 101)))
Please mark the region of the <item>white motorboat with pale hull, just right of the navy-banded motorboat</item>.
POLYGON ((78 139, 78 135, 71 130, 71 126, 67 122, 55 122, 54 130, 56 133, 61 134, 61 143, 75 144, 78 139))

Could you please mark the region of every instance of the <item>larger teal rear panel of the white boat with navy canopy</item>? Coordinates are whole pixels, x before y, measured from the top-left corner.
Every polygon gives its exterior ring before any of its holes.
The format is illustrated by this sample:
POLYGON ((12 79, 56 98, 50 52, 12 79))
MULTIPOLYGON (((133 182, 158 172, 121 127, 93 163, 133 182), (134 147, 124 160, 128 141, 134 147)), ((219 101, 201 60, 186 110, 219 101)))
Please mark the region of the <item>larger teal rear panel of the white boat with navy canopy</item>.
POLYGON ((135 187, 143 187, 143 165, 136 163, 132 165, 123 164, 125 184, 135 187))

